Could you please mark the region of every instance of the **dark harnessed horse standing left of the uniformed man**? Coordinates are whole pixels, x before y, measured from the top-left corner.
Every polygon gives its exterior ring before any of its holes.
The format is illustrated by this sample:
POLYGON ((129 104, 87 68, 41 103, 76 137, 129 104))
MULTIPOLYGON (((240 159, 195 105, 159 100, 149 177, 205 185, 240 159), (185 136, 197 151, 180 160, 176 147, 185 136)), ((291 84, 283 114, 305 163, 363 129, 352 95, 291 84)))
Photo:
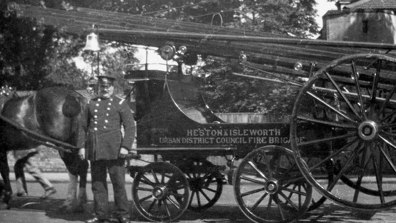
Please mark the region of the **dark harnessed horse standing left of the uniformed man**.
POLYGON ((84 121, 81 115, 86 105, 86 98, 65 87, 44 88, 23 97, 18 97, 15 89, 1 88, 0 173, 4 198, 0 209, 9 208, 12 196, 7 151, 45 145, 60 150, 60 157, 69 173, 67 197, 60 211, 85 211, 88 161, 79 159, 75 145, 78 123, 84 121), (77 196, 78 177, 80 184, 77 196))

